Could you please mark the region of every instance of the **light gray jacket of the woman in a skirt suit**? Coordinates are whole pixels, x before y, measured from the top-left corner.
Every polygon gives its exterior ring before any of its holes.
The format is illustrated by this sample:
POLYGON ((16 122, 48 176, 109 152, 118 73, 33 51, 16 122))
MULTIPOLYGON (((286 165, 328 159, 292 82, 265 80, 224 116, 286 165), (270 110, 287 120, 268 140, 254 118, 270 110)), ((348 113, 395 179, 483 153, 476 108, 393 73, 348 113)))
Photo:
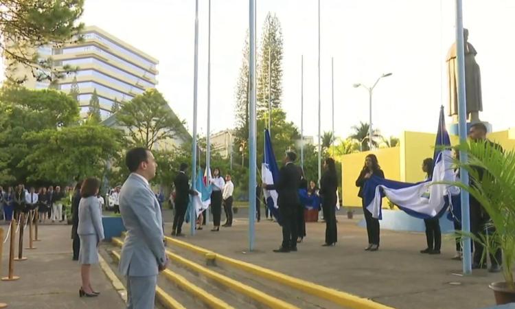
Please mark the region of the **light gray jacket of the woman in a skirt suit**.
POLYGON ((80 199, 77 233, 79 235, 96 234, 99 242, 104 239, 102 209, 100 209, 100 203, 96 196, 80 199))

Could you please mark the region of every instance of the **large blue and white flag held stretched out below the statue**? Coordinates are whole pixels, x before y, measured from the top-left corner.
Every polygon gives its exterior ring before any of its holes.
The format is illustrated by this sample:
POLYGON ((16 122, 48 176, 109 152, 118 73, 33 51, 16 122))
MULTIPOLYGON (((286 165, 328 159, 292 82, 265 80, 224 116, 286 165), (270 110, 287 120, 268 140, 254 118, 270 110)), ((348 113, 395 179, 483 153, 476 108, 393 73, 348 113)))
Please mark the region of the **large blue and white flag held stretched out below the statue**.
POLYGON ((445 128, 444 108, 440 111, 438 132, 433 155, 433 179, 420 183, 402 183, 372 176, 365 182, 363 196, 368 211, 374 218, 382 218, 382 197, 410 216, 428 219, 442 216, 450 203, 451 186, 436 184, 439 181, 454 181, 450 139, 445 128))

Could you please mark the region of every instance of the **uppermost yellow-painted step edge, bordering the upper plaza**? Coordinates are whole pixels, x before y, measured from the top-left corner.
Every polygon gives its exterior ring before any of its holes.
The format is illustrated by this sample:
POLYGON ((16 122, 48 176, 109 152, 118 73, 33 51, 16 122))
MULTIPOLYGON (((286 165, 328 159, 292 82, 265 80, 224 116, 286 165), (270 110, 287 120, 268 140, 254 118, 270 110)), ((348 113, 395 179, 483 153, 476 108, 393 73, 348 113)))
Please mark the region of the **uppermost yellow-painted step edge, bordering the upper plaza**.
POLYGON ((341 306, 346 306, 349 308, 356 309, 392 309, 389 306, 385 306, 370 299, 358 297, 356 295, 352 295, 349 293, 341 292, 339 290, 335 290, 334 288, 327 288, 325 286, 321 286, 319 284, 314 284, 312 282, 308 282, 306 280, 297 279, 295 277, 284 275, 283 273, 279 273, 277 271, 272 271, 271 269, 264 268, 261 266, 257 266, 254 264, 250 264, 247 262, 243 262, 240 260, 236 260, 233 258, 229 258, 225 255, 220 255, 218 253, 214 253, 213 251, 209 251, 207 249, 203 249, 201 247, 197 247, 194 244, 190 244, 188 242, 183 242, 182 240, 176 240, 175 238, 165 237, 167 242, 171 242, 176 246, 188 249, 190 251, 206 255, 206 254, 215 254, 216 261, 222 262, 225 264, 229 264, 233 267, 239 268, 242 271, 247 271, 248 273, 253 273, 255 275, 259 275, 260 277, 264 277, 266 279, 270 279, 272 281, 278 282, 279 284, 284 284, 286 286, 290 286, 292 288, 296 288, 297 290, 304 291, 316 297, 320 297, 322 299, 327 299, 328 301, 332 301, 335 304, 339 304, 341 306))

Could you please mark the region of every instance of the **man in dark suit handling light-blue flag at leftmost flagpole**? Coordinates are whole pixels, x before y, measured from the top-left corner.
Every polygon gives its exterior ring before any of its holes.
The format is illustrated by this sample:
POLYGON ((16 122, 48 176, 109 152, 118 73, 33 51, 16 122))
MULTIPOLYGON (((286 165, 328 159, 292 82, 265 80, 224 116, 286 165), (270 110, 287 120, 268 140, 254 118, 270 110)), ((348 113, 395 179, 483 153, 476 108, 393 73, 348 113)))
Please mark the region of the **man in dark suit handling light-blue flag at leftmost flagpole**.
MULTIPOLYGON (((181 163, 181 171, 174 179, 175 185, 175 216, 174 225, 172 226, 172 236, 184 236, 182 231, 184 216, 186 214, 187 203, 190 201, 190 194, 196 195, 196 192, 190 189, 189 179, 186 176, 187 164, 181 163)), ((193 222, 195 221, 192 218, 193 222)))

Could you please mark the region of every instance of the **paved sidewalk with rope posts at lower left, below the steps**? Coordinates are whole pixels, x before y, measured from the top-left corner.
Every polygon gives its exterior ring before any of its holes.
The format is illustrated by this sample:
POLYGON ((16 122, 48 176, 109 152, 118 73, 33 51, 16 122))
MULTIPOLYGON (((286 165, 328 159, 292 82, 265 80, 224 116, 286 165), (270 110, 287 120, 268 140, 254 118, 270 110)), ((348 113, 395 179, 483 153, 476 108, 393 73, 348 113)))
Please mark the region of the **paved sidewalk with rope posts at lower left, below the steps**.
MULTIPOLYGON (((8 227, 1 226, 4 237, 8 227)), ((8 308, 38 309, 80 309, 80 308, 125 308, 111 282, 100 269, 91 266, 91 283, 101 295, 99 297, 79 297, 80 265, 71 260, 71 226, 45 225, 39 227, 40 242, 34 242, 37 249, 23 250, 26 261, 14 262, 14 275, 20 279, 14 282, 0 281, 0 302, 8 308)), ((16 254, 18 248, 16 236, 16 254)), ((3 240, 1 240, 3 242, 3 240)), ((25 231, 24 246, 28 247, 28 227, 25 231)), ((9 240, 3 244, 1 276, 8 274, 9 240)))

